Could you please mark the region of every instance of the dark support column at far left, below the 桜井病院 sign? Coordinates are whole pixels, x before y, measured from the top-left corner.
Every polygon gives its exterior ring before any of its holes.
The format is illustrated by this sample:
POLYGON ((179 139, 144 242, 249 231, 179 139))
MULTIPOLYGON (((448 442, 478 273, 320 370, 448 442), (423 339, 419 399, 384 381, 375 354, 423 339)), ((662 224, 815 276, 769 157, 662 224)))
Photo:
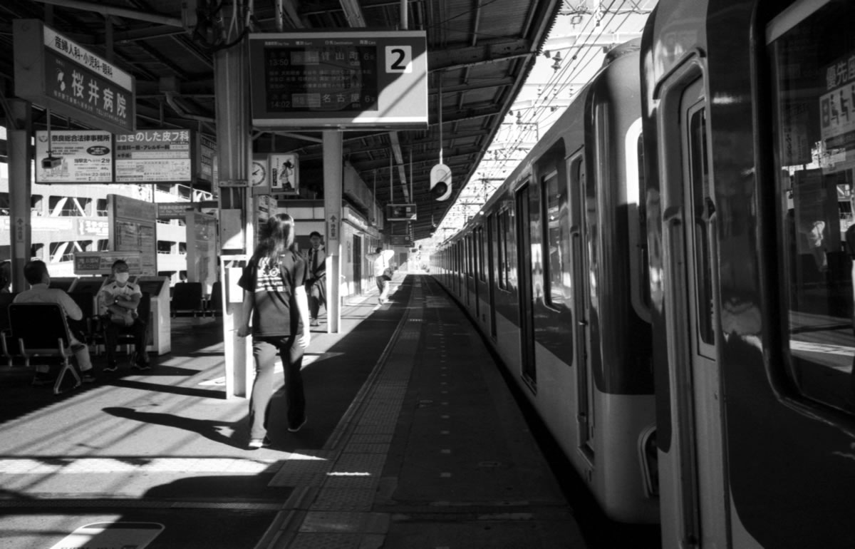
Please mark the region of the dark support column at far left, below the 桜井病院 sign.
POLYGON ((21 99, 9 100, 12 120, 7 123, 9 145, 9 258, 11 259, 12 292, 27 289, 24 263, 32 257, 30 196, 32 195, 32 105, 21 99))

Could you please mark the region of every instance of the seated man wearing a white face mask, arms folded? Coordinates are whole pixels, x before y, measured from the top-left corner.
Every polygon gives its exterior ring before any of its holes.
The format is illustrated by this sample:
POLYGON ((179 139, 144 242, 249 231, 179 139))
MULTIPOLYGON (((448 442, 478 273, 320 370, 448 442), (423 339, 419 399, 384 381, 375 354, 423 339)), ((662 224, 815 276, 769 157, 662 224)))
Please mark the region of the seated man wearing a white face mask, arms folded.
POLYGON ((104 346, 107 351, 107 365, 103 369, 105 372, 114 372, 118 368, 115 345, 118 344, 119 333, 126 329, 133 334, 134 353, 131 368, 151 368, 148 353, 145 351, 148 319, 140 318, 137 314, 143 292, 139 286, 128 281, 131 277, 129 271, 127 263, 117 259, 112 266, 113 280, 102 286, 98 292, 98 310, 104 326, 104 346))

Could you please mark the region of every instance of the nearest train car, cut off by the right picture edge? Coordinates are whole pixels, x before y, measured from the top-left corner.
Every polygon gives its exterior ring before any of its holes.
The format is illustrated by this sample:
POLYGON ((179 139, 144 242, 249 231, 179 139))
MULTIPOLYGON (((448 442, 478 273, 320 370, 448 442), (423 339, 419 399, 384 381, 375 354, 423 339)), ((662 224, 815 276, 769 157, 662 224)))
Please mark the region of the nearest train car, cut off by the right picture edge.
POLYGON ((681 0, 648 21, 665 547, 855 546, 853 20, 681 0))

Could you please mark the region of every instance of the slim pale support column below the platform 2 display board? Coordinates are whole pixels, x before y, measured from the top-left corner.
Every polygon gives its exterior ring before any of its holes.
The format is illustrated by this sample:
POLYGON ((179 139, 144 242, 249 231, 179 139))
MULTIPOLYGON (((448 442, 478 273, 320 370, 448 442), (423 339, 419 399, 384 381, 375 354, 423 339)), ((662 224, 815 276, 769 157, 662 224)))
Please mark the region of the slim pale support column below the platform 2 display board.
POLYGON ((323 133, 323 209, 327 228, 327 334, 338 334, 341 322, 341 195, 343 173, 341 132, 323 133))

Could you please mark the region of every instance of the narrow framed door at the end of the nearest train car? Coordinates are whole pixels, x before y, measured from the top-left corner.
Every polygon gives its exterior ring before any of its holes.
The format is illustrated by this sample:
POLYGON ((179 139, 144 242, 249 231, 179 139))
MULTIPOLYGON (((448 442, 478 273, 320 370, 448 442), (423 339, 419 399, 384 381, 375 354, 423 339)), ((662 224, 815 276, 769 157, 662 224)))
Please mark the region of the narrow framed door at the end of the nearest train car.
POLYGON ((671 480, 680 528, 675 535, 685 546, 724 547, 729 524, 716 358, 716 207, 708 165, 704 80, 690 80, 691 76, 684 76, 686 84, 675 86, 669 94, 673 101, 663 107, 674 105, 676 115, 663 129, 681 141, 679 148, 665 152, 666 292, 672 296, 667 329, 677 434, 671 480))

